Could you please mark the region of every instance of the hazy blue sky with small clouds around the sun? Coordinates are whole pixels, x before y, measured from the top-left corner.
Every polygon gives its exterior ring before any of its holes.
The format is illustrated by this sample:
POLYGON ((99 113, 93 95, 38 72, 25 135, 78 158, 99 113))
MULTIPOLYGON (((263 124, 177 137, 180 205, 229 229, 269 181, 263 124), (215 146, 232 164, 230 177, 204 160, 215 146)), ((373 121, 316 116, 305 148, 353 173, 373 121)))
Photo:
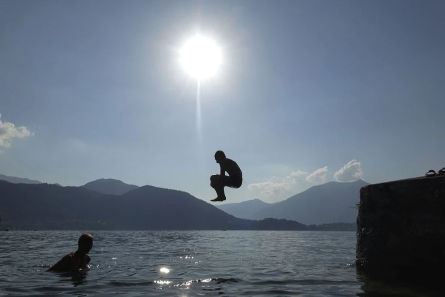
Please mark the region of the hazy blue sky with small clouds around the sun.
POLYGON ((444 1, 0 1, 0 173, 227 202, 445 166, 444 1), (196 32, 223 65, 178 63, 196 32))

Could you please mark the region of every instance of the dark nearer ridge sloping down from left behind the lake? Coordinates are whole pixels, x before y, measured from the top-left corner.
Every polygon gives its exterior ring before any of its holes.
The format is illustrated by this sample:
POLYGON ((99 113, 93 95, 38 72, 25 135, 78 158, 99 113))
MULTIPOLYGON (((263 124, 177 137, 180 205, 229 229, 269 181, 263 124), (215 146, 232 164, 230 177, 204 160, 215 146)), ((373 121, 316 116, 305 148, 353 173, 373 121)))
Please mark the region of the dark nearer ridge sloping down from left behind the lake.
POLYGON ((188 193, 144 186, 124 195, 0 181, 2 228, 308 230, 296 221, 239 219, 188 193))

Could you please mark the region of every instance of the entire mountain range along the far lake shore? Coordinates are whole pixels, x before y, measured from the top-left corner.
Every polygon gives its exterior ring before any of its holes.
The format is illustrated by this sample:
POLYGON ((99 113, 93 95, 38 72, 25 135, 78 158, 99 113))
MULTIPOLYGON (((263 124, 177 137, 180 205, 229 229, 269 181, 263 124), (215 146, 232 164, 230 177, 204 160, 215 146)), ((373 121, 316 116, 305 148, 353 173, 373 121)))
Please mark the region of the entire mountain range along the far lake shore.
POLYGON ((276 203, 252 199, 215 207, 182 191, 138 187, 116 179, 62 187, 4 175, 0 175, 0 180, 1 177, 12 181, 0 181, 3 221, 7 218, 15 222, 15 226, 41 229, 78 229, 79 224, 86 224, 95 229, 255 229, 262 226, 270 230, 305 230, 306 225, 320 225, 315 229, 350 230, 355 226, 359 189, 368 184, 362 180, 329 182, 276 203), (332 225, 338 222, 351 226, 332 225))

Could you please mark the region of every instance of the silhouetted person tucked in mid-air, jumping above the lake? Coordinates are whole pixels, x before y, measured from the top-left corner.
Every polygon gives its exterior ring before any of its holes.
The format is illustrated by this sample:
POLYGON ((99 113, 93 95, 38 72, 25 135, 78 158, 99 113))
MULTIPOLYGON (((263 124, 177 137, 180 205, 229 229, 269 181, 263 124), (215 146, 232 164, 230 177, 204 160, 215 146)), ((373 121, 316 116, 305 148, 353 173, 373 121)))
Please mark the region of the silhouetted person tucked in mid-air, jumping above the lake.
POLYGON ((215 189, 217 198, 211 201, 224 201, 224 187, 239 188, 243 183, 243 173, 238 164, 225 156, 222 150, 215 153, 215 160, 220 164, 221 173, 210 177, 210 186, 215 189), (228 176, 225 175, 228 173, 228 176))

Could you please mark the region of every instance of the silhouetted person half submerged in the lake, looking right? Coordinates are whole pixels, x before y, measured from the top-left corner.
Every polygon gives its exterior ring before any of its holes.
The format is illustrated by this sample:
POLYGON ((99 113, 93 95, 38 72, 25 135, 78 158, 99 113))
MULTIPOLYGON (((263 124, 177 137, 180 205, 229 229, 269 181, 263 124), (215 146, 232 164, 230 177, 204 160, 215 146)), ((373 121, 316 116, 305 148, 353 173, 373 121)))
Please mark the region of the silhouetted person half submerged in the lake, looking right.
POLYGON ((55 263, 48 271, 78 271, 84 269, 91 260, 88 255, 93 243, 92 235, 84 233, 79 238, 79 248, 75 252, 65 255, 55 263))

